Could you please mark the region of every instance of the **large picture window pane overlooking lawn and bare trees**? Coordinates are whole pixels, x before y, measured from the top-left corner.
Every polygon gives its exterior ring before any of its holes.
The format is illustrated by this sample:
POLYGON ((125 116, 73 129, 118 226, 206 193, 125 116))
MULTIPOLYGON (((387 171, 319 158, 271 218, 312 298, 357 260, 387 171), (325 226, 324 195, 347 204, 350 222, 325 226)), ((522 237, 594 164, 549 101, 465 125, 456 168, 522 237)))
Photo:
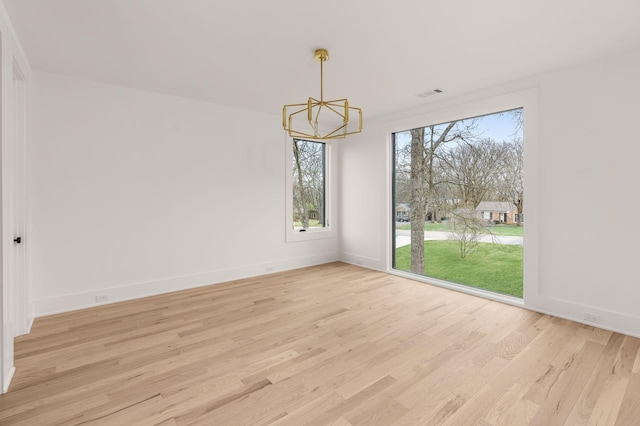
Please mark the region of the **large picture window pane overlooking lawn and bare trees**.
POLYGON ((393 268, 521 298, 524 110, 393 133, 393 268))

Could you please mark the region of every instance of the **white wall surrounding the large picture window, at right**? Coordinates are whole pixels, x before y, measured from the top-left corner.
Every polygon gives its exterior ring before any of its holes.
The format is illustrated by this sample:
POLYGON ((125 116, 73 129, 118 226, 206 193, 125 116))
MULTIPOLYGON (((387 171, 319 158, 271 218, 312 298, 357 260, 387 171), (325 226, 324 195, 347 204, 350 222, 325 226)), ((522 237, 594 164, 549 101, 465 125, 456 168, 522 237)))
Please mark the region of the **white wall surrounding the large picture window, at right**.
POLYGON ((640 336, 639 75, 634 51, 368 121, 342 147, 341 259, 390 265, 388 136, 397 123, 464 118, 531 89, 538 96, 535 120, 525 122, 533 135, 525 140, 525 256, 535 253, 526 258, 524 304, 577 321, 593 313, 605 328, 640 336))

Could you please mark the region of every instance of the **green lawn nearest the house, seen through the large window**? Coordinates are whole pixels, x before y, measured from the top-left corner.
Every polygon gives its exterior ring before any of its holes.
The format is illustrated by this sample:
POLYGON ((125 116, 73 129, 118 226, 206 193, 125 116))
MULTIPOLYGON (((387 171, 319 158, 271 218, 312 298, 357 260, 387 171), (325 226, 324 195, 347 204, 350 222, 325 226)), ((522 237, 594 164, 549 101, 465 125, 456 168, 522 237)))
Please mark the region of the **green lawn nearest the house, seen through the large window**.
MULTIPOLYGON (((465 259, 456 241, 425 241, 425 275, 522 297, 523 247, 480 243, 465 259)), ((411 246, 396 250, 396 269, 411 270, 411 246)))

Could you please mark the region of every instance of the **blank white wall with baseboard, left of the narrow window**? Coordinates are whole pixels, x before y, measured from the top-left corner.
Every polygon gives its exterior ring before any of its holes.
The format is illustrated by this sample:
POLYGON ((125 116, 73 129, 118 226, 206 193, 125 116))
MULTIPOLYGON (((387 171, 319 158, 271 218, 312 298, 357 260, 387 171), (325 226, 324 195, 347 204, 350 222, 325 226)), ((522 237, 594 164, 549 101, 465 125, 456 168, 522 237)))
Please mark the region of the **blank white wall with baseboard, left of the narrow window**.
POLYGON ((36 72, 36 315, 337 259, 285 243, 277 115, 36 72))

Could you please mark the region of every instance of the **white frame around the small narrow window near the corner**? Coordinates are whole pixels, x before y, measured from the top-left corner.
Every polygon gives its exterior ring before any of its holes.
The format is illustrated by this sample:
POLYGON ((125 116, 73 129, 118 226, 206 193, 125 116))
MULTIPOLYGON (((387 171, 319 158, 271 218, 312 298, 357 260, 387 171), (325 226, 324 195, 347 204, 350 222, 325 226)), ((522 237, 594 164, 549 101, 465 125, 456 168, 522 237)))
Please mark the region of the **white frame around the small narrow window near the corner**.
POLYGON ((285 136, 285 241, 287 243, 335 238, 337 236, 335 224, 335 155, 332 141, 312 138, 298 138, 285 136), (296 228, 293 221, 293 140, 306 140, 323 143, 325 146, 324 160, 324 227, 309 227, 305 231, 296 228))

